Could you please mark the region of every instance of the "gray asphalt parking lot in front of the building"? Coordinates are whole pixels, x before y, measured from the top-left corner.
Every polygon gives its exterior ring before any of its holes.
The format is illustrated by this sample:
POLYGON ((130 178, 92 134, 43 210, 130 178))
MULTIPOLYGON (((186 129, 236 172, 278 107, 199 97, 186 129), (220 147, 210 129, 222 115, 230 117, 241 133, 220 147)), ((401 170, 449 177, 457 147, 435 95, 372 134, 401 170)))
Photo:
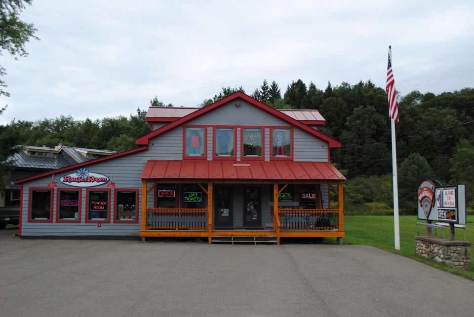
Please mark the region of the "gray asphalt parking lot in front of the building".
POLYGON ((474 282, 375 247, 21 240, 0 315, 473 316, 474 282))

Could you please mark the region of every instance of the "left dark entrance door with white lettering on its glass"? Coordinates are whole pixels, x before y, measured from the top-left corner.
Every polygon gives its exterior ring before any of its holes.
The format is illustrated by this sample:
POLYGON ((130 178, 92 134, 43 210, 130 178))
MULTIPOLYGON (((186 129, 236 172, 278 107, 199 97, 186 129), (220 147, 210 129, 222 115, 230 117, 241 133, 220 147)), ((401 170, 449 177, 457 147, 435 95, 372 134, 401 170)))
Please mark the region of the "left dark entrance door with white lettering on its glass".
POLYGON ((215 186, 214 193, 214 227, 233 227, 233 188, 215 186))

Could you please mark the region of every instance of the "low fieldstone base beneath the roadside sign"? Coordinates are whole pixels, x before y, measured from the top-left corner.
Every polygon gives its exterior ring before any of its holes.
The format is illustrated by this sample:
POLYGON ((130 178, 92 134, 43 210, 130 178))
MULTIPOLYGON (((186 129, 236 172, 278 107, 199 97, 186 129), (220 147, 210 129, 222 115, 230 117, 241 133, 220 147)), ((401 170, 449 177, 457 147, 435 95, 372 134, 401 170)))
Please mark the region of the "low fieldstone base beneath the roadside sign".
POLYGON ((416 255, 433 259, 455 269, 471 270, 471 242, 440 237, 413 236, 416 255))

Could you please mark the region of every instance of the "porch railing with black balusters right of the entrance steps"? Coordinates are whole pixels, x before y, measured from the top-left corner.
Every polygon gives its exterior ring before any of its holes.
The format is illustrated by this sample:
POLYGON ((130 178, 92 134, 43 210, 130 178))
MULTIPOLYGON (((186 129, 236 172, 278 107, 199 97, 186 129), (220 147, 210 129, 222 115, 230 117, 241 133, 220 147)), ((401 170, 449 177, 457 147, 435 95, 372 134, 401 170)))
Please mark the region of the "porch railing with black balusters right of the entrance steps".
POLYGON ((337 209, 279 209, 281 230, 331 230, 339 227, 337 209))

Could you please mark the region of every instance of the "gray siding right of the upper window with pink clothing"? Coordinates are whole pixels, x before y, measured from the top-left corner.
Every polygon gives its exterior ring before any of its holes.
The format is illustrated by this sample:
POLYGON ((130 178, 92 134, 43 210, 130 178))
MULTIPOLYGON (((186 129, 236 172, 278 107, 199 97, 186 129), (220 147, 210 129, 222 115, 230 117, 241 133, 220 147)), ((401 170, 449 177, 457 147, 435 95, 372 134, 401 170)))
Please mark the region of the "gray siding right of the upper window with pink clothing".
POLYGON ((327 162, 327 143, 299 130, 293 129, 295 162, 327 162))

